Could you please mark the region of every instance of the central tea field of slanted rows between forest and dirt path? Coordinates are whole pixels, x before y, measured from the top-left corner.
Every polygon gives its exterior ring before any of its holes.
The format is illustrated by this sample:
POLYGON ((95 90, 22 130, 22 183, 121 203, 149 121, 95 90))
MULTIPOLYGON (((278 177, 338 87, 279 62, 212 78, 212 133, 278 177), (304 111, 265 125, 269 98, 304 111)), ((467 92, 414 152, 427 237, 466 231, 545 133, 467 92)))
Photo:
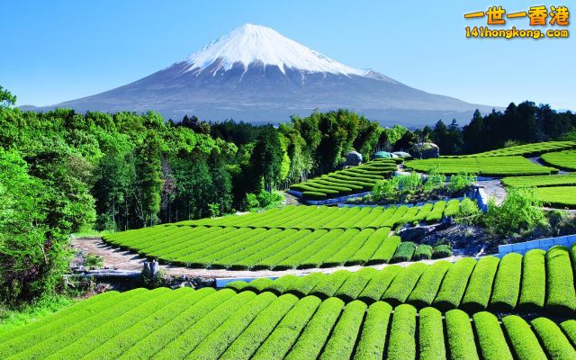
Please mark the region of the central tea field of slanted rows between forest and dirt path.
POLYGON ((114 246, 180 266, 273 269, 382 264, 400 238, 391 228, 454 216, 457 200, 421 208, 286 206, 220 219, 182 221, 105 236, 114 246))

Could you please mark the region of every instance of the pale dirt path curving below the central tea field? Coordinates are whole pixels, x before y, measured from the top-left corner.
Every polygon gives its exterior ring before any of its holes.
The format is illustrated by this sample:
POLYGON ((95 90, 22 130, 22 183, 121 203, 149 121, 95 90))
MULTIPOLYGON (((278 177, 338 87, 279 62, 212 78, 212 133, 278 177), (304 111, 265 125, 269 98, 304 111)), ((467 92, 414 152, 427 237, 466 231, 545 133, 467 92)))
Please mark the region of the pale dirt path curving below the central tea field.
MULTIPOLYGON (((103 243, 101 238, 73 238, 72 246, 84 250, 86 253, 91 253, 103 257, 104 267, 116 270, 127 270, 135 271, 141 270, 146 260, 144 257, 140 257, 137 254, 130 253, 130 251, 121 250, 116 247, 111 247, 103 243)), ((462 257, 446 257, 442 260, 456 261, 462 257)), ((440 259, 438 259, 440 260, 440 259)), ((433 264, 438 260, 423 260, 422 263, 433 264)), ((399 266, 409 266, 414 264, 413 262, 399 263, 399 266)), ((315 272, 321 272, 325 274, 334 273, 337 270, 346 269, 349 271, 357 271, 363 267, 374 267, 375 269, 382 269, 387 264, 375 265, 375 266, 338 266, 338 267, 327 267, 320 269, 292 269, 283 271, 272 271, 272 270, 257 270, 257 271, 247 271, 247 270, 220 270, 220 269, 191 269, 187 267, 180 266, 160 266, 166 271, 168 275, 174 276, 200 276, 200 277, 219 277, 219 278, 243 278, 243 277, 264 277, 264 276, 282 276, 282 275, 306 275, 315 272)))

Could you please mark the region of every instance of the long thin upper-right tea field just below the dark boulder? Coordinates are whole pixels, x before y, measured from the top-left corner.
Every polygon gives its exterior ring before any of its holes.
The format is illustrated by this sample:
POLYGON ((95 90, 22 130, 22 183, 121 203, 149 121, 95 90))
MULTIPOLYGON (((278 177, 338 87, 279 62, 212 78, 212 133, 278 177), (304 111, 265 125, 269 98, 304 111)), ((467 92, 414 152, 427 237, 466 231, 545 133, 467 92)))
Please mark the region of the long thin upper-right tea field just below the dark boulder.
POLYGON ((539 166, 526 157, 440 157, 425 160, 410 160, 407 168, 429 173, 432 170, 454 175, 461 172, 483 176, 550 175, 558 170, 539 166))

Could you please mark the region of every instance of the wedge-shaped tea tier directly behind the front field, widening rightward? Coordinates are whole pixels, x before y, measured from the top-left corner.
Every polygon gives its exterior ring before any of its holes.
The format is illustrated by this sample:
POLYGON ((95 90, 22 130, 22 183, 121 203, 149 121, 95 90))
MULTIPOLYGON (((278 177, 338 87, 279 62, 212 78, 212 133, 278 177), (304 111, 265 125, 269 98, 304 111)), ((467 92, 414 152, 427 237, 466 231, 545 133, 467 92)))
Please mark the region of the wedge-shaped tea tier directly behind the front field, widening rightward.
POLYGON ((572 262, 576 261, 576 247, 572 247, 572 254, 566 247, 553 247, 548 252, 530 250, 524 257, 511 253, 501 260, 466 257, 455 264, 441 260, 433 265, 385 266, 383 270, 367 267, 354 273, 338 270, 330 275, 284 275, 275 280, 236 281, 227 287, 238 292, 338 297, 344 302, 409 303, 418 309, 433 306, 441 311, 548 311, 566 315, 576 310, 571 256, 572 262))

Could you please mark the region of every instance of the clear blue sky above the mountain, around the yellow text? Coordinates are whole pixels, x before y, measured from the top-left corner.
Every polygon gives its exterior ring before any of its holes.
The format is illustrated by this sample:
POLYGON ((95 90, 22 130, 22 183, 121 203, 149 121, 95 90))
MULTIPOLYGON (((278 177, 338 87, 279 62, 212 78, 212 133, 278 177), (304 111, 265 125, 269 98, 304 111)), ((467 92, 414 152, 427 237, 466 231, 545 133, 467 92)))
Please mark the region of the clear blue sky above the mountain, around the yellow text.
MULTIPOLYGON (((167 67, 244 23, 256 23, 329 58, 372 67, 430 93, 498 106, 530 99, 576 109, 576 33, 565 40, 465 39, 466 25, 484 26, 486 20, 465 20, 464 13, 492 4, 509 12, 537 5, 512 0, 9 0, 2 4, 0 22, 0 85, 18 95, 19 105, 97 94, 167 67)), ((563 4, 576 12, 576 1, 563 4)), ((527 19, 511 22, 528 28, 527 19)))

